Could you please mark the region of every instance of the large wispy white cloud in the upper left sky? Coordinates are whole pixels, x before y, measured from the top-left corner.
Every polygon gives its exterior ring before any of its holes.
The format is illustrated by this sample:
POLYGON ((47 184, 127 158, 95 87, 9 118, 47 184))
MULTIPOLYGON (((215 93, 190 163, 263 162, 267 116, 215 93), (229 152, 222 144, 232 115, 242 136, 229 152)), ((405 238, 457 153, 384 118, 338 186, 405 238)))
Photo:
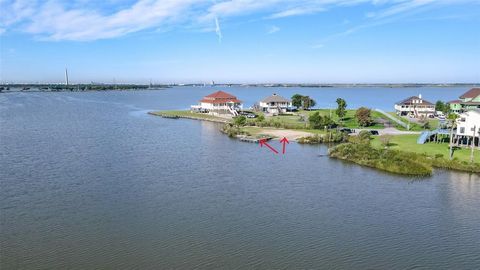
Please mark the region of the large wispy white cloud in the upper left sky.
POLYGON ((66 8, 60 1, 37 5, 30 1, 16 1, 10 6, 15 16, 2 19, 1 25, 18 24, 21 30, 50 40, 88 41, 126 35, 128 33, 181 21, 197 0, 139 0, 112 14, 99 10, 66 8), (15 13, 19 2, 24 10, 15 13))

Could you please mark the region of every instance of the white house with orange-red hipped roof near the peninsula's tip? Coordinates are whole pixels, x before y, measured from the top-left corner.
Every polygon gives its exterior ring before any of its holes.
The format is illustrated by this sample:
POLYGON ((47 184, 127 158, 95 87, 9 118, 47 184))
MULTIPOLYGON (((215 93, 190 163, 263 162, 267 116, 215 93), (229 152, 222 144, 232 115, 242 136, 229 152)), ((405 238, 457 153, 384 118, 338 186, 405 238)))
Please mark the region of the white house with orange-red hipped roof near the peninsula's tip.
POLYGON ((237 116, 242 110, 242 102, 236 96, 217 91, 201 99, 198 105, 191 106, 194 112, 208 113, 216 116, 237 116))

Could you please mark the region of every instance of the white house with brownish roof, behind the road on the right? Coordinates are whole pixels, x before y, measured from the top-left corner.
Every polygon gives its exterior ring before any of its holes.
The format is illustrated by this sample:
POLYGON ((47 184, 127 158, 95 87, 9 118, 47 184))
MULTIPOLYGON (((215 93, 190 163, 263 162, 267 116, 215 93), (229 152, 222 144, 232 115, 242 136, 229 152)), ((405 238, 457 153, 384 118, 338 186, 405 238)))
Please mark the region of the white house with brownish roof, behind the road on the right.
POLYGON ((399 116, 409 116, 413 118, 434 117, 435 104, 422 98, 412 96, 395 104, 395 111, 399 116))

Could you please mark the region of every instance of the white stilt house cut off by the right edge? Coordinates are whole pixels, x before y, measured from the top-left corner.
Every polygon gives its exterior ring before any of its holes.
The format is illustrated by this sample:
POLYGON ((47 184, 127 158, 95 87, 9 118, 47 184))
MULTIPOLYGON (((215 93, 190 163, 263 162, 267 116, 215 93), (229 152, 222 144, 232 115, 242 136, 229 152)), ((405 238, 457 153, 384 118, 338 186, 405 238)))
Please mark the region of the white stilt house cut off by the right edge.
POLYGON ((457 144, 470 145, 472 138, 475 138, 475 145, 478 145, 480 137, 480 110, 471 110, 461 113, 457 118, 457 144))

